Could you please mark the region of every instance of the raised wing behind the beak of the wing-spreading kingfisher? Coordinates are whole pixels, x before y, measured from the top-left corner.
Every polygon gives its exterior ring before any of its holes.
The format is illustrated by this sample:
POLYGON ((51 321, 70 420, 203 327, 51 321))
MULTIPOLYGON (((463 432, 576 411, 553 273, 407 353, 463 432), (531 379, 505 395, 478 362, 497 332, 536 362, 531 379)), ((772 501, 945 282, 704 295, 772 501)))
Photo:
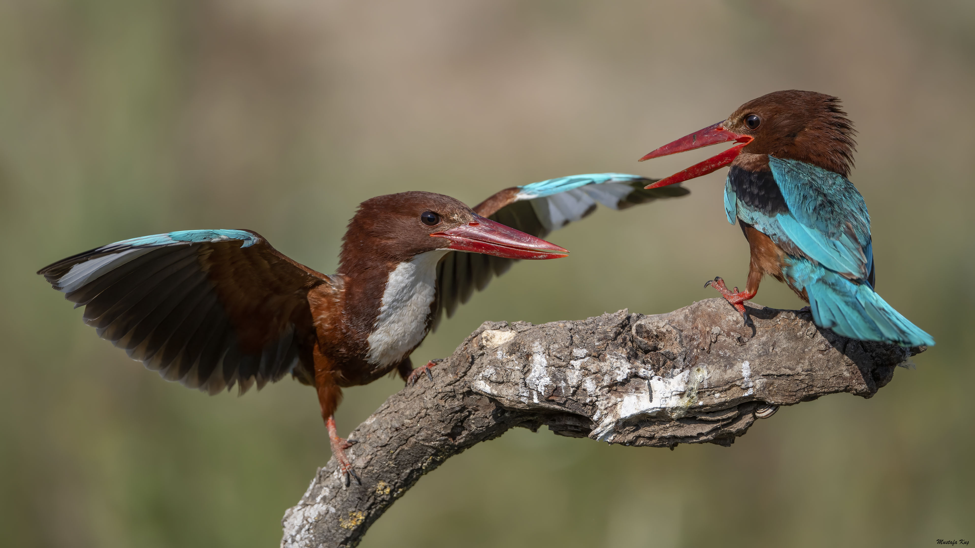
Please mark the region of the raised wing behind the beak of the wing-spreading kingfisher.
MULTIPOLYGON (((474 207, 478 215, 544 238, 553 230, 593 213, 598 204, 623 210, 659 198, 683 196, 690 191, 674 184, 643 189, 656 179, 626 174, 587 174, 551 178, 524 186, 513 186, 487 198, 474 207)), ((438 265, 438 310, 434 329, 443 312, 453 315, 457 306, 474 290, 487 287, 491 277, 500 276, 514 259, 486 254, 450 252, 438 265)))

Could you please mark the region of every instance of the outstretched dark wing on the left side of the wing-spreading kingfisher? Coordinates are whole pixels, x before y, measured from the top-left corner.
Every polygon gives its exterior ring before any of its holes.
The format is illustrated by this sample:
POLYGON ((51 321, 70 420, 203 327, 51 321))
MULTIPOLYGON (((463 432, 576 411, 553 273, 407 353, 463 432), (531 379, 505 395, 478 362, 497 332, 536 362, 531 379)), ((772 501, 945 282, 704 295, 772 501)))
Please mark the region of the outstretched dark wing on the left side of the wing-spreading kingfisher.
POLYGON ((98 336, 164 378, 215 394, 292 372, 308 381, 308 291, 331 279, 250 230, 124 240, 42 268, 98 336), (301 371, 293 371, 302 363, 301 371))

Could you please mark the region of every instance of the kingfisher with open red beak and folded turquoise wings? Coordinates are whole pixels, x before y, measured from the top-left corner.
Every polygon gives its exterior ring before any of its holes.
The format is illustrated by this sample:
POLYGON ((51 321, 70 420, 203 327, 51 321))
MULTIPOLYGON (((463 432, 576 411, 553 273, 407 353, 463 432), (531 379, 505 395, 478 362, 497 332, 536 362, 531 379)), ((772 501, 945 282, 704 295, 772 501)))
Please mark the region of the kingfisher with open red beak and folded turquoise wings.
POLYGON ((846 177, 853 167, 853 124, 839 98, 789 90, 756 98, 727 120, 643 156, 658 158, 710 144, 738 144, 683 172, 648 185, 660 188, 730 165, 724 211, 751 249, 744 292, 709 280, 748 321, 744 301, 764 274, 785 282, 809 303, 817 326, 860 340, 901 346, 934 339, 875 291, 870 215, 846 177))

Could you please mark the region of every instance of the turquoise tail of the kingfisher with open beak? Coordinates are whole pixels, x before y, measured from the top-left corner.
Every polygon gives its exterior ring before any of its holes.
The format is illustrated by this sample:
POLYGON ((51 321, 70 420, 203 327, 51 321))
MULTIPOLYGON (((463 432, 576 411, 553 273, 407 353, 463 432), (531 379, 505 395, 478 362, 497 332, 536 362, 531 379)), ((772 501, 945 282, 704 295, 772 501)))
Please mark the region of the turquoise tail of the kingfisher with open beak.
POLYGON ((877 340, 900 346, 932 346, 934 338, 901 315, 868 284, 855 284, 839 274, 806 284, 812 319, 821 328, 859 340, 877 340))

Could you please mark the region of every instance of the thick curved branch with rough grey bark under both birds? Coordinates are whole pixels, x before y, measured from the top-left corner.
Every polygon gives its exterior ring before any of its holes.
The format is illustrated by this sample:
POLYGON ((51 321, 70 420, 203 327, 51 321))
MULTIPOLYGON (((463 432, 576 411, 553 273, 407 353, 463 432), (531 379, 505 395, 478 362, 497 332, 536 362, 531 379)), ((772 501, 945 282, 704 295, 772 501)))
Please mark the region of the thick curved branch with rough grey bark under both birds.
POLYGON ((816 328, 808 312, 721 298, 668 314, 621 310, 533 326, 486 322, 443 364, 349 436, 362 485, 335 459, 285 513, 283 547, 355 546, 420 476, 513 426, 611 444, 730 446, 778 406, 835 392, 870 398, 924 350, 816 328))

